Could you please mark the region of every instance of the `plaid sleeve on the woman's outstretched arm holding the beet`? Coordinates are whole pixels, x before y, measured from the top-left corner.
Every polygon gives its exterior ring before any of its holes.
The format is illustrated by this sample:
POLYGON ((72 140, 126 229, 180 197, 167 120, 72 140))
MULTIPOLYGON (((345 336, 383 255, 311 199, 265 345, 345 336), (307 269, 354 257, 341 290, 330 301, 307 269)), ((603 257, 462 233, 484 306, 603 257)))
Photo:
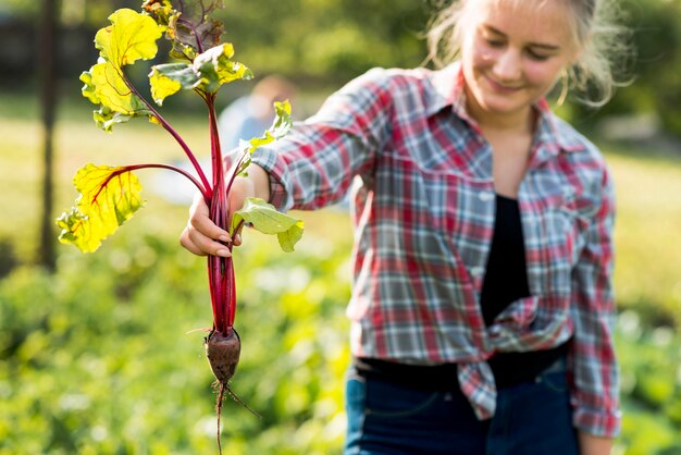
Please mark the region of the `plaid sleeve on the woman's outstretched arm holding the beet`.
POLYGON ((281 210, 312 210, 340 200, 356 175, 373 170, 389 139, 392 98, 386 70, 375 69, 332 95, 251 162, 270 174, 270 201, 281 210))

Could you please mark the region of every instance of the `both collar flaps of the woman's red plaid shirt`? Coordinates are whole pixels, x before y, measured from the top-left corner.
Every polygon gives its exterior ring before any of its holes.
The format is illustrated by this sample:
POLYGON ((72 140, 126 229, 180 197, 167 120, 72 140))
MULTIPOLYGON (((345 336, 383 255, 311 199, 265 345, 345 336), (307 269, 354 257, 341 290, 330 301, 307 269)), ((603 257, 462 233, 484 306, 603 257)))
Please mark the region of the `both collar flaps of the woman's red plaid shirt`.
MULTIPOLYGON (((478 130, 476 122, 466 110, 466 90, 460 61, 457 60, 442 70, 434 71, 431 83, 433 96, 429 103, 428 115, 434 115, 451 107, 456 115, 478 130)), ((535 140, 538 140, 548 151, 584 150, 584 144, 574 134, 569 134, 570 128, 567 128, 565 123, 556 116, 545 98, 536 102, 534 108, 538 113, 535 140)))

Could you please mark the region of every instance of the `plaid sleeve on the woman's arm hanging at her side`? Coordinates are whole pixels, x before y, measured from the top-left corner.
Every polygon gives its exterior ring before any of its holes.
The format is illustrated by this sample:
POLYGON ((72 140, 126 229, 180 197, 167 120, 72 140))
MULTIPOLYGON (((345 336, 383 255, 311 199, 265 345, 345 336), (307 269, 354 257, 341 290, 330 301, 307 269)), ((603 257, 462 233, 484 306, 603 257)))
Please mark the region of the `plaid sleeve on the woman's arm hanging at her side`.
POLYGON ((597 183, 602 198, 586 232, 586 243, 572 273, 571 348, 574 426, 590 434, 619 433, 619 371, 612 330, 612 225, 615 197, 609 173, 597 183))

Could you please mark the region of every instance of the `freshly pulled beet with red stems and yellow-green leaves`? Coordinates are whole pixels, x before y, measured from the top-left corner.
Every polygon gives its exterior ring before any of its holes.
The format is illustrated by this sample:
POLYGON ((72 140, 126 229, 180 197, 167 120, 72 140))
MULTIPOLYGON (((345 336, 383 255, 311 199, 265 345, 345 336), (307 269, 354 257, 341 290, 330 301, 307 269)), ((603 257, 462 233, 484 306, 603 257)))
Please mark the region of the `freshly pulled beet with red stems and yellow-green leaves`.
MULTIPOLYGON (((134 118, 146 118, 165 130, 184 150, 194 172, 165 163, 133 165, 85 164, 74 177, 79 193, 75 206, 58 218, 60 241, 73 244, 84 253, 95 251, 143 207, 141 185, 134 171, 164 169, 188 179, 210 208, 211 220, 231 234, 225 248, 232 250, 233 238, 248 223, 265 234, 276 234, 280 246, 293 251, 302 235, 302 222, 278 212, 262 199, 249 198, 244 207, 231 213, 228 197, 235 179, 247 172, 251 153, 259 147, 283 137, 292 126, 288 102, 276 102, 276 118, 260 137, 244 140, 225 173, 216 123, 216 94, 221 86, 238 79, 250 79, 252 72, 232 60, 234 48, 222 42, 224 25, 211 13, 221 7, 220 0, 170 1, 147 0, 141 11, 120 9, 109 16, 111 25, 99 29, 95 46, 99 59, 81 75, 83 96, 98 109, 94 120, 100 128, 111 132, 134 118), (139 60, 150 60, 158 53, 157 41, 165 36, 172 44, 172 62, 151 66, 149 85, 151 98, 161 107, 169 96, 179 90, 193 90, 208 109, 211 172, 206 175, 197 155, 158 110, 133 85, 126 66, 139 60)), ((143 150, 144 152, 144 150, 143 150)), ((240 354, 240 340, 234 329, 236 283, 233 257, 208 257, 209 287, 213 323, 205 339, 206 355, 218 389, 218 445, 220 445, 220 414, 225 392, 246 406, 230 389, 240 354)), ((250 409, 249 409, 250 410, 250 409)), ((252 410, 251 410, 252 411, 252 410)), ((256 414, 255 411, 252 411, 256 414)), ((222 451, 222 450, 221 450, 222 451)))

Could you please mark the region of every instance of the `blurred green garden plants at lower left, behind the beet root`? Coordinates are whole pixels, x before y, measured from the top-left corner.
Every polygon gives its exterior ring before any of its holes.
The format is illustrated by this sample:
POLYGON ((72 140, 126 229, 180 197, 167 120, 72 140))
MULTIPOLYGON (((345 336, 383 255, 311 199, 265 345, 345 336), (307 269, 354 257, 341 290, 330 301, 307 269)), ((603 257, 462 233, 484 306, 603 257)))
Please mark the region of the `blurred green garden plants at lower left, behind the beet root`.
MULTIPOLYGON (((137 226, 141 228, 143 226, 137 226)), ((249 235, 236 258, 243 340, 231 454, 327 454, 343 440, 347 244, 314 235, 285 256, 249 235), (274 251, 274 253, 272 253, 274 251)), ((133 230, 59 273, 0 283, 0 454, 215 453, 203 259, 133 230)))

